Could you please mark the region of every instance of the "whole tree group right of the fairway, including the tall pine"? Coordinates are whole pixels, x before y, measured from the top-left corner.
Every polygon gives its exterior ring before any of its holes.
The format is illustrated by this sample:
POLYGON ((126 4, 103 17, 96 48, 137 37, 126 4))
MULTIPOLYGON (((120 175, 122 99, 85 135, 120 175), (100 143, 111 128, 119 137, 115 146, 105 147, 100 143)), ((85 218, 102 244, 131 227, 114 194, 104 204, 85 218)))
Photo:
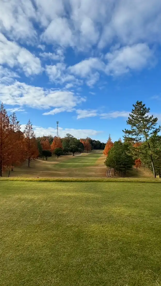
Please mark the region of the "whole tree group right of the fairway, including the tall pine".
POLYGON ((133 104, 127 125, 130 129, 124 132, 124 142, 119 139, 112 142, 110 136, 106 143, 104 154, 107 156, 105 165, 122 174, 126 174, 133 166, 136 170, 141 166, 148 167, 154 178, 161 178, 161 136, 158 118, 150 115, 142 101, 133 104))

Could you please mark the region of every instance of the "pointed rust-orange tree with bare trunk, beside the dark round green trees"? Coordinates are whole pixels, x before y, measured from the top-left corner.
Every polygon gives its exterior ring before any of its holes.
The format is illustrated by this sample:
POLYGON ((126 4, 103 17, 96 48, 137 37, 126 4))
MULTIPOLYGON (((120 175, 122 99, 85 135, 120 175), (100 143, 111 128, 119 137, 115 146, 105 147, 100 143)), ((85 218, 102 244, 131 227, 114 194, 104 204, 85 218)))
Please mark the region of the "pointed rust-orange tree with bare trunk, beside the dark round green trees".
POLYGON ((23 131, 24 133, 24 142, 25 142, 25 154, 28 160, 28 167, 30 166, 30 161, 32 158, 37 158, 39 152, 37 148, 37 141, 35 139, 35 133, 33 131, 32 123, 30 120, 25 126, 23 131))

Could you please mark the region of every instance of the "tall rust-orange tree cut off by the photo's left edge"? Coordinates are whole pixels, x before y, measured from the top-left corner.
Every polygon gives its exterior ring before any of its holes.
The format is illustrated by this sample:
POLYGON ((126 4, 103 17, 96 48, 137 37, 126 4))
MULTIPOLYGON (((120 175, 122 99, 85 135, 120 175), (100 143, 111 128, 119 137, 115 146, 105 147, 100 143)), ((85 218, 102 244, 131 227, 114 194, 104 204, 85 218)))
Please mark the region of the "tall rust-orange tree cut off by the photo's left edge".
POLYGON ((1 104, 0 107, 0 177, 6 168, 11 167, 12 138, 9 117, 1 104))

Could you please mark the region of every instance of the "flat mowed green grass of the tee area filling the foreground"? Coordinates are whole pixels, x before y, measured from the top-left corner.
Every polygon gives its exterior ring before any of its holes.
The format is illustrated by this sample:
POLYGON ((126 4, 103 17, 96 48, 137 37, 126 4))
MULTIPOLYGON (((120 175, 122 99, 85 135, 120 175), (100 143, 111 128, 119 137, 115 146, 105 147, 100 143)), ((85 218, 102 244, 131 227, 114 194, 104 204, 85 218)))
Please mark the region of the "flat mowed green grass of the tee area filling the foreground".
POLYGON ((0 285, 161 285, 160 190, 1 181, 0 285))

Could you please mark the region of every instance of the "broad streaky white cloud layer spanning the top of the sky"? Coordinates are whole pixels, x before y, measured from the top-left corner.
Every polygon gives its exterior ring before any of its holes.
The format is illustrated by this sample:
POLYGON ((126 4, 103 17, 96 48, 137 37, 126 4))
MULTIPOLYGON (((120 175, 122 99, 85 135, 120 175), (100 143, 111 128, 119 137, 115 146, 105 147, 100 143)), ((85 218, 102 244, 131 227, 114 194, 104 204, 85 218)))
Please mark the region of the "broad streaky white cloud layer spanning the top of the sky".
POLYGON ((1 31, 25 43, 36 41, 35 23, 45 41, 81 50, 161 39, 160 0, 1 0, 0 11, 1 31))

